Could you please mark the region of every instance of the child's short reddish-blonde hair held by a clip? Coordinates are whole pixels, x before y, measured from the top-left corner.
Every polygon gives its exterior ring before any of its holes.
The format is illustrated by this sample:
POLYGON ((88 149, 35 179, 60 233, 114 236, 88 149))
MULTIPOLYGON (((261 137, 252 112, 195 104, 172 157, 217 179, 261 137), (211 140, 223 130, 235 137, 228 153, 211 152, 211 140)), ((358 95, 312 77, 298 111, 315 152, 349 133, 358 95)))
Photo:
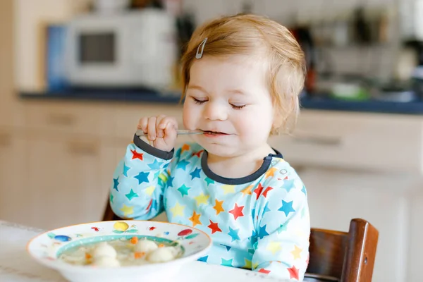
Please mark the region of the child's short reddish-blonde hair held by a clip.
POLYGON ((266 78, 278 117, 271 135, 290 133, 300 112, 298 94, 305 82, 304 53, 290 31, 274 20, 250 14, 223 16, 204 23, 192 34, 182 57, 182 99, 197 49, 205 38, 202 56, 257 54, 266 60, 266 78))

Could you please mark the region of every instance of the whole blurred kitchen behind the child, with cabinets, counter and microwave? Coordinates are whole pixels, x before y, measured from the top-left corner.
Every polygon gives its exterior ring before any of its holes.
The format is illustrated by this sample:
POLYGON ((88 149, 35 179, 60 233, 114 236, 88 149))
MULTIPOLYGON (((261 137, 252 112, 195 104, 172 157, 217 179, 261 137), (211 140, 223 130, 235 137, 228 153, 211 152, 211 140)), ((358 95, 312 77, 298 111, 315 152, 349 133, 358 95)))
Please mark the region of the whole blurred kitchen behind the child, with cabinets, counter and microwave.
POLYGON ((307 56, 298 128, 271 144, 304 180, 312 226, 367 219, 374 281, 421 281, 422 0, 1 0, 0 219, 101 219, 138 119, 181 120, 192 29, 242 11, 290 27, 307 56))

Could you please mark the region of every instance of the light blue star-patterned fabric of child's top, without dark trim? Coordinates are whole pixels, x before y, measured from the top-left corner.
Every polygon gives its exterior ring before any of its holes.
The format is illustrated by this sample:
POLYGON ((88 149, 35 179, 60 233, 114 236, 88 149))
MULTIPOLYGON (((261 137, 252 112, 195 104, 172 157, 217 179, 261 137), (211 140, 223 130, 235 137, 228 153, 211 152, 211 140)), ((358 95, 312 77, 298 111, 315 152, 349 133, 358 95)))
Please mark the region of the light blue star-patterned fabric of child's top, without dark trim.
POLYGON ((308 264, 307 192, 282 155, 269 154, 250 176, 223 178, 207 166, 207 151, 185 144, 156 149, 135 135, 110 190, 117 216, 198 228, 213 240, 199 260, 302 280, 308 264))

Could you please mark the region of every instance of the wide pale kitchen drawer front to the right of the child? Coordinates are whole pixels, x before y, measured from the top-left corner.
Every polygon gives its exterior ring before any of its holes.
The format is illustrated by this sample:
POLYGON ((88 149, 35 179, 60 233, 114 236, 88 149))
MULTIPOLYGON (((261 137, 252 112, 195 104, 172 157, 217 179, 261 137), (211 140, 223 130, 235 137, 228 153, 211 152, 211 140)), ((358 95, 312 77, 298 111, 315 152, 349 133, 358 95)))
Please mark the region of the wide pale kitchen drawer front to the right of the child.
POLYGON ((303 111, 295 132, 271 138, 292 164, 422 171, 422 118, 303 111))

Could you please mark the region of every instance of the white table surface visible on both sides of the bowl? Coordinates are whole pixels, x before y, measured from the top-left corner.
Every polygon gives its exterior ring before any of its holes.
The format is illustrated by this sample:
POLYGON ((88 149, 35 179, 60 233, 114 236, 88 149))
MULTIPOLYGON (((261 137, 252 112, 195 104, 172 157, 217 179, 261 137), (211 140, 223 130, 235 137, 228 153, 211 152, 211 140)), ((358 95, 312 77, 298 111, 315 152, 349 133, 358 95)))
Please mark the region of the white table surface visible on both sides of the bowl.
MULTIPOLYGON (((44 231, 41 229, 0 221, 1 282, 66 282, 58 272, 37 263, 26 252, 27 242, 42 232, 44 231)), ((181 272, 176 281, 285 281, 245 269, 235 269, 204 262, 190 262, 190 264, 194 264, 189 267, 192 270, 181 272)))

